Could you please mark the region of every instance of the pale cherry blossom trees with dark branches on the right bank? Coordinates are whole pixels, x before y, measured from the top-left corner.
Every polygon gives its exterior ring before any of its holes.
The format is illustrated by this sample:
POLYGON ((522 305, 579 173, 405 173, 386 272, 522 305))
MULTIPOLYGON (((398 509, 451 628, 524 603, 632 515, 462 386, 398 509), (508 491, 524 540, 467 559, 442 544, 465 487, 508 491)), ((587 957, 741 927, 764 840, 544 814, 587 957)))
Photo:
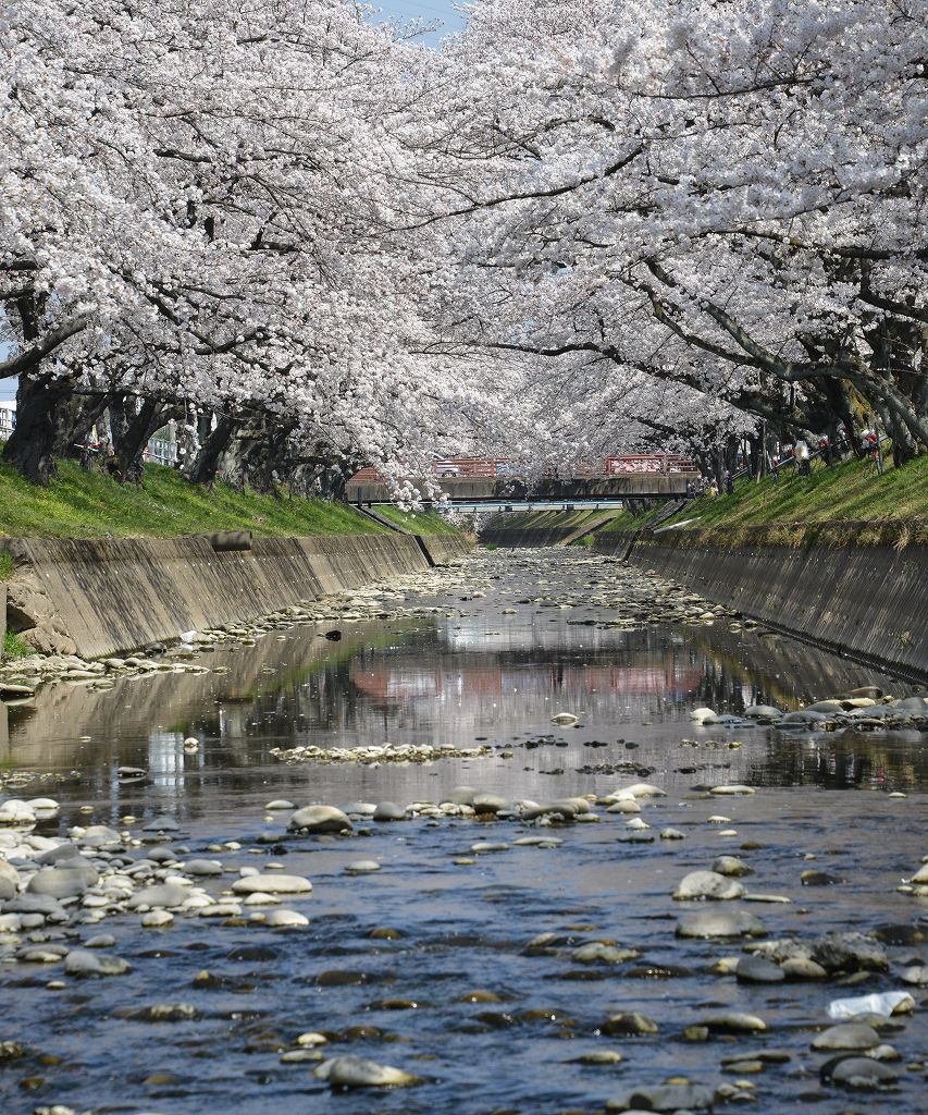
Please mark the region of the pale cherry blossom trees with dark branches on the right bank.
POLYGON ((925 452, 926 32, 914 0, 476 3, 420 169, 447 329, 925 452))

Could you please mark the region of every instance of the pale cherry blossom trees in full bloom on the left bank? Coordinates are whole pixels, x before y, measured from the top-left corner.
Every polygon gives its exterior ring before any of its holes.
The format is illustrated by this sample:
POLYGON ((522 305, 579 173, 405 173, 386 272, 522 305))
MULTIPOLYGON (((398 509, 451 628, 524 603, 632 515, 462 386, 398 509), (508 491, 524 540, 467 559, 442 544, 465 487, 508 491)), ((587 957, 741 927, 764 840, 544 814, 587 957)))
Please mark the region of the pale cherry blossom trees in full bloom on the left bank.
POLYGON ((387 220, 403 40, 339 0, 10 11, 7 459, 46 481, 78 425, 65 410, 113 400, 126 469, 178 404, 216 416, 203 479, 255 423, 412 452, 441 360, 420 355, 418 263, 387 220))

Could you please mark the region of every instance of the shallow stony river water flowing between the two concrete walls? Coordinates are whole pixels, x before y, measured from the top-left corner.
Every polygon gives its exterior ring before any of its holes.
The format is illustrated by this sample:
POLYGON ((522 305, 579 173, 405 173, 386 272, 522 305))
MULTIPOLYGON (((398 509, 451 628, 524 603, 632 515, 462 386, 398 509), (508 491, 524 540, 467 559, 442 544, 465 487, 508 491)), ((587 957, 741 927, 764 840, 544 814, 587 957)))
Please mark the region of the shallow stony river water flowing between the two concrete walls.
MULTIPOLYGON (((319 638, 322 628, 274 630, 254 647, 203 655, 225 672, 106 690, 59 683, 11 706, 0 720, 2 758, 37 776, 17 794, 60 803, 37 832, 110 825, 128 842, 108 854, 141 860, 154 841, 146 822, 167 816, 177 828, 155 846, 180 863, 222 862, 223 876, 195 880, 211 894, 241 867, 274 864, 311 879, 313 892, 285 898, 310 919, 297 929, 251 922, 247 906, 225 920, 177 917, 163 930, 141 928, 131 912, 85 924, 78 906, 68 924, 19 940, 0 933, 0 1041, 25 1054, 0 1057, 0 1112, 602 1112, 629 1089, 677 1077, 753 1093, 748 1109, 764 1113, 927 1111, 924 1008, 881 1032, 900 1055, 887 1061, 899 1076, 893 1090, 864 1096, 822 1083, 828 1055, 810 1043, 833 999, 900 987, 917 1005, 926 998, 899 973, 928 962, 928 900, 897 886, 928 852, 928 735, 690 718, 701 706, 793 709, 866 685, 922 690, 769 632, 730 631, 721 618, 668 623, 644 609, 608 626, 610 584, 625 579, 627 599, 634 576, 584 551, 498 551, 410 585, 406 604, 429 610, 342 624, 340 641, 319 638), (553 724, 559 712, 578 723, 553 724), (193 754, 183 747, 191 736, 193 754), (287 764, 272 753, 385 740, 487 750, 426 764, 287 764), (126 780, 120 766, 146 775, 126 780), (274 798, 438 803, 461 784, 546 802, 636 782, 667 795, 643 802, 648 830, 596 807, 595 823, 427 816, 355 820, 350 837, 290 836, 287 814, 264 808, 274 798), (706 793, 735 783, 756 793, 706 793), (729 820, 710 822, 715 815, 729 820), (667 826, 684 838, 639 842, 667 826), (515 843, 527 835, 561 843, 515 843), (504 846, 472 853, 478 842, 504 846), (713 910, 745 910, 770 938, 877 930, 890 971, 774 985, 717 973, 744 942, 677 938, 678 919, 709 903, 671 894, 723 853, 751 866, 749 890, 790 901, 713 910), (380 871, 346 874, 359 859, 380 871), (803 885, 810 866, 841 881, 803 885), (101 932, 129 973, 76 980, 60 963, 22 960, 25 944, 75 948, 101 932), (554 939, 527 949, 545 932, 554 939), (592 941, 638 956, 578 961, 575 950, 592 941), (147 1008, 158 1005, 189 1009, 153 1020, 147 1008), (760 1016, 766 1029, 684 1040, 691 1025, 731 1010, 760 1016), (657 1032, 607 1036, 603 1024, 621 1011, 642 1012, 657 1032), (422 1083, 333 1093, 313 1076, 318 1063, 282 1059, 309 1050, 296 1039, 310 1031, 329 1039, 325 1057, 368 1057, 422 1083), (746 1078, 724 1064, 760 1050, 785 1059, 746 1078), (604 1051, 621 1060, 583 1059, 604 1051)), ((729 1106, 741 1104, 717 1098, 716 1109, 729 1106)))

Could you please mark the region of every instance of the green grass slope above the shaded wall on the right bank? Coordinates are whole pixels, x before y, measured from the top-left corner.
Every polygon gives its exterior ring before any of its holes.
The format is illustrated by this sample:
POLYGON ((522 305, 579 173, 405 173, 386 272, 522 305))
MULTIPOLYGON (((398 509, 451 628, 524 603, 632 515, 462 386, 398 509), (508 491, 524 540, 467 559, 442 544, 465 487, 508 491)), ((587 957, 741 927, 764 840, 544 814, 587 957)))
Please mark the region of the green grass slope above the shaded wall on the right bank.
MULTIPOLYGON (((695 518, 697 530, 768 526, 781 523, 857 523, 928 518, 928 456, 901 468, 887 462, 878 475, 869 460, 848 460, 811 476, 785 469, 779 484, 742 479, 734 495, 703 496, 668 522, 695 518)), ((667 525, 667 524, 662 524, 667 525)))

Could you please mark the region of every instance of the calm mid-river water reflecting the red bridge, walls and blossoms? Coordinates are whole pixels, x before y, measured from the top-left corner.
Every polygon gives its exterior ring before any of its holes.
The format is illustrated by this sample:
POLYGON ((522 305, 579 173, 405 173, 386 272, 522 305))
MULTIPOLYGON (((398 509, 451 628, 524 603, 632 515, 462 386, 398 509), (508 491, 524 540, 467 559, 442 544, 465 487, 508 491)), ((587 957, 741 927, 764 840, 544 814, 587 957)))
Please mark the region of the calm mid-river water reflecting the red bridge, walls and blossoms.
MULTIPOLYGON (((261 772, 261 786, 299 780, 270 756, 272 747, 384 740, 486 739, 497 750, 516 748, 508 767, 492 764, 494 778, 514 794, 537 796, 549 793, 553 772, 566 772, 582 791, 592 787, 596 764, 629 758, 681 789, 710 774, 758 785, 928 785, 917 733, 789 736, 754 728, 734 739, 688 719, 700 705, 740 712, 751 704, 795 708, 860 685, 891 690, 873 670, 781 637, 595 627, 608 613, 594 608, 526 605, 507 615, 502 599, 470 602, 463 614, 346 627, 339 643, 302 628, 204 656, 227 672, 121 680, 101 691, 60 683, 10 708, 2 757, 20 768, 75 770, 66 797, 111 801, 115 808, 117 799, 138 807, 140 795, 143 808, 176 803, 191 815, 258 793, 250 772, 261 772), (553 734, 550 717, 560 710, 580 716, 580 727, 554 733, 559 748, 521 752, 525 740, 553 734), (188 735, 202 740, 195 755, 183 752, 188 735), (682 749, 685 739, 696 746, 682 749), (590 749, 594 743, 603 747, 590 749), (120 765, 144 767, 148 779, 120 786, 120 765)), ((446 766, 450 788, 462 772, 446 766)), ((473 768, 463 773, 472 780, 473 768)), ((378 777, 395 782, 385 770, 378 777)), ((363 787, 370 793, 371 774, 331 768, 315 785, 338 787, 346 799, 363 787)))

